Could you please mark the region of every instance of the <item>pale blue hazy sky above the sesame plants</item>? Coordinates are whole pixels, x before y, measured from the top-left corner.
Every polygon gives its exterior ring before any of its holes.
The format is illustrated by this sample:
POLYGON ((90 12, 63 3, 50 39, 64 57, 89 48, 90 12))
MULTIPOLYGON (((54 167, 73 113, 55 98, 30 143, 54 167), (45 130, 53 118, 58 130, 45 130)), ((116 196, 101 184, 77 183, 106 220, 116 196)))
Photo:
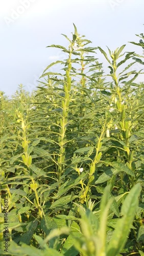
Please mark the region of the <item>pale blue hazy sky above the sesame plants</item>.
MULTIPOLYGON (((61 35, 71 37, 73 23, 78 33, 92 41, 93 47, 107 51, 126 44, 125 51, 140 51, 129 43, 138 42, 143 32, 143 0, 0 0, 0 91, 11 96, 23 84, 32 91, 39 85, 47 65, 63 60, 56 44, 68 47, 61 35)), ((90 45, 89 45, 90 46, 90 45)), ((138 52, 139 53, 139 52, 138 52)), ((105 61, 98 53, 100 62, 105 61)), ((104 66, 107 63, 104 63, 104 66)), ((136 66, 135 69, 141 69, 136 66)))

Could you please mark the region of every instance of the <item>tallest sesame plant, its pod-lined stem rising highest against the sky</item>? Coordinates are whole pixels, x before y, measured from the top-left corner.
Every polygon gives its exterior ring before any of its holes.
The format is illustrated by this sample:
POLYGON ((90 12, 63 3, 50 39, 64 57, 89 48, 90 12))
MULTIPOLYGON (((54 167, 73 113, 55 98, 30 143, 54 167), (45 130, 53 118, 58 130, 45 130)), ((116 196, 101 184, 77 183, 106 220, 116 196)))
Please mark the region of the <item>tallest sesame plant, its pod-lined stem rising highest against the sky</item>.
MULTIPOLYGON (((73 34, 73 39, 70 40, 66 35, 65 38, 69 41, 68 50, 63 46, 59 45, 51 45, 48 47, 60 48, 66 54, 68 54, 68 58, 65 61, 58 60, 53 62, 51 65, 47 66, 44 70, 41 77, 49 76, 48 83, 50 80, 55 81, 55 85, 57 84, 57 90, 62 90, 62 93, 58 95, 60 98, 60 102, 57 103, 59 108, 59 120, 57 121, 57 126, 59 126, 59 132, 56 132, 58 135, 58 142, 55 142, 59 145, 59 152, 57 158, 57 177, 58 180, 61 179, 62 174, 65 170, 66 165, 66 146, 70 140, 66 138, 67 126, 70 122, 68 118, 68 114, 70 112, 70 108, 74 106, 73 102, 73 94, 74 92, 80 92, 80 101, 84 101, 84 94, 86 90, 86 79, 90 79, 86 74, 84 74, 85 66, 89 65, 93 61, 93 56, 85 56, 85 54, 95 53, 94 50, 97 48, 85 47, 91 41, 87 39, 83 39, 84 36, 80 36, 77 32, 77 28, 74 25, 75 33, 73 34), (78 56, 72 59, 73 56, 78 56), (53 65, 61 63, 64 65, 64 74, 47 72, 47 69, 52 67, 53 65), (80 66, 80 68, 79 68, 80 66), (60 79, 57 77, 60 76, 60 79), (78 79, 81 76, 80 84, 78 85, 78 79), (72 80, 73 77, 73 80, 72 80), (62 89, 60 88, 62 85, 62 89), (71 105, 70 105, 71 104, 71 105)), ((94 59, 95 60, 95 59, 94 59)), ((41 88, 43 90, 43 88, 41 88)), ((47 91, 48 93, 48 91, 47 91)), ((84 115, 84 108, 80 105, 80 112, 84 115)))

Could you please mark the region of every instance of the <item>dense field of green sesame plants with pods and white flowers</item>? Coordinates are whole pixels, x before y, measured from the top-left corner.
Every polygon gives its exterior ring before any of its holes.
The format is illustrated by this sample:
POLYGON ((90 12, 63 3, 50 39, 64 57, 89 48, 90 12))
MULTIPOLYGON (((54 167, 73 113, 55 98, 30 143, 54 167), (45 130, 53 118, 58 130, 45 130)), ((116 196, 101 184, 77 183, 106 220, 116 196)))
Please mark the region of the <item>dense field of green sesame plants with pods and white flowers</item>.
POLYGON ((144 36, 63 36, 35 92, 0 92, 0 254, 143 256, 144 36))

